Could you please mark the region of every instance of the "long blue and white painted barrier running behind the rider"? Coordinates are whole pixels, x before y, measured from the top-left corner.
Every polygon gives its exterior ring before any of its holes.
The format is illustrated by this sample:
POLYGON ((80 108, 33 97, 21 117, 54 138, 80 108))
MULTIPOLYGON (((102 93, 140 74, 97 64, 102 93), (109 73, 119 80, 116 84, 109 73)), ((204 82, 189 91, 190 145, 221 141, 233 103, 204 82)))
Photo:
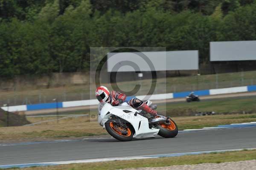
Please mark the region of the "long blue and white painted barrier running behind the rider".
MULTIPOLYGON (((241 86, 241 87, 230 87, 224 89, 209 89, 209 90, 198 90, 194 91, 195 95, 219 95, 227 93, 237 93, 237 92, 252 92, 256 91, 256 85, 253 86, 241 86)), ((170 98, 184 98, 189 95, 191 91, 188 92, 177 92, 177 93, 166 93, 166 94, 156 94, 148 96, 150 100, 164 100, 170 98)), ((146 95, 140 96, 128 96, 126 101, 129 101, 131 98, 140 98, 143 99, 146 95)), ((82 101, 64 101, 58 103, 58 108, 65 107, 79 107, 79 106, 90 106, 97 105, 99 101, 97 99, 93 100, 82 100, 82 101)), ((18 112, 18 111, 28 111, 28 110, 39 110, 39 109, 55 109, 57 106, 56 103, 46 103, 46 104, 29 104, 29 105, 19 105, 19 106, 10 106, 10 107, 1 107, 5 111, 9 112, 18 112)))

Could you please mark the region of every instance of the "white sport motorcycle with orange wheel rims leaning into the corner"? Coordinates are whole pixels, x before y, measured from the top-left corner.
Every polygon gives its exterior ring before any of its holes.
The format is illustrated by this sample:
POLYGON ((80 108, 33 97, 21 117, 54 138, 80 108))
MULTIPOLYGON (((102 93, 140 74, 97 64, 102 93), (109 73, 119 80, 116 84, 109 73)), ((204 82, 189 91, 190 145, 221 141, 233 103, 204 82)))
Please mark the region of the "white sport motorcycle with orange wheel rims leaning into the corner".
MULTIPOLYGON (((151 101, 146 101, 146 104, 152 106, 151 101)), ((106 103, 99 112, 98 122, 119 141, 158 135, 173 138, 178 133, 178 127, 171 118, 163 115, 146 116, 143 111, 134 109, 127 103, 114 107, 106 103)))

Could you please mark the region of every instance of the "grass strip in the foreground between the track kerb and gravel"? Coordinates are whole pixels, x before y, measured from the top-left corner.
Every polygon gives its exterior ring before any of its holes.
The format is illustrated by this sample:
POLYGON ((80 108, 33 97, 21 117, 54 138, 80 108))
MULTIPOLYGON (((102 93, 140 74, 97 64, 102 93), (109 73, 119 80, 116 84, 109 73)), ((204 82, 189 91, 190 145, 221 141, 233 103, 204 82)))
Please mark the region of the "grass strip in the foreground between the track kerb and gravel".
MULTIPOLYGON (((29 167, 22 170, 116 170, 138 167, 166 167, 184 164, 222 163, 256 159, 256 150, 244 150, 225 153, 209 153, 194 156, 140 159, 130 161, 110 161, 87 164, 68 164, 48 167, 29 167)), ((12 170, 12 169, 10 169, 12 170)))

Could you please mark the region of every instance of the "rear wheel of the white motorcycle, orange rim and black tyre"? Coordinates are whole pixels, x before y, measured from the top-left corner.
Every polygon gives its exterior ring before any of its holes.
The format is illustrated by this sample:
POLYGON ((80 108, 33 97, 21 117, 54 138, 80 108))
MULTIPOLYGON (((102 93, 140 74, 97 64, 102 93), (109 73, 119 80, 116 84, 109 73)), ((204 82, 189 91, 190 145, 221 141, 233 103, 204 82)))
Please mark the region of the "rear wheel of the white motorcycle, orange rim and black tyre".
POLYGON ((169 121, 171 122, 170 125, 160 124, 157 126, 160 129, 158 135, 164 138, 174 138, 178 134, 177 124, 171 118, 169 121))

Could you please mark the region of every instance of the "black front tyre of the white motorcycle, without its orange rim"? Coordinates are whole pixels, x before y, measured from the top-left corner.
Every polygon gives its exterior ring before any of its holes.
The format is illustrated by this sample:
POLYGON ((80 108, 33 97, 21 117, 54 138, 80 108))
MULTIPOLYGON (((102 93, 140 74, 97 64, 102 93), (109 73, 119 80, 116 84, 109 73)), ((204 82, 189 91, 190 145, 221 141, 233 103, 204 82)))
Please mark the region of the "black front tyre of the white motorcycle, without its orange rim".
POLYGON ((113 136, 113 138, 116 138, 116 139, 119 140, 119 141, 131 141, 131 140, 132 140, 133 135, 134 135, 134 129, 133 129, 133 127, 131 126, 131 124, 126 123, 126 125, 128 126, 128 128, 130 129, 131 135, 129 135, 129 136, 123 136, 123 135, 120 135, 120 134, 116 133, 116 131, 114 131, 114 130, 111 128, 111 122, 112 122, 112 123, 116 122, 116 119, 109 119, 109 120, 105 123, 105 127, 106 127, 106 130, 108 131, 108 133, 109 133, 111 136, 113 136))

